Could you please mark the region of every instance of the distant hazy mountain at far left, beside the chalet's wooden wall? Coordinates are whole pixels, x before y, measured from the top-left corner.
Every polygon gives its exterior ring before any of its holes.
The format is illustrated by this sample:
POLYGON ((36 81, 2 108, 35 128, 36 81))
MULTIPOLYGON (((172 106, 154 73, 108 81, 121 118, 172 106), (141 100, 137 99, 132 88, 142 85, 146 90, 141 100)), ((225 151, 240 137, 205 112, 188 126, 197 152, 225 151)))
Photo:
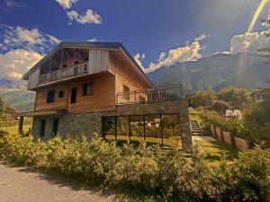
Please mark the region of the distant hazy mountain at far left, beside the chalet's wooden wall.
POLYGON ((35 92, 18 89, 0 89, 0 97, 4 103, 14 105, 18 111, 33 110, 35 92))

